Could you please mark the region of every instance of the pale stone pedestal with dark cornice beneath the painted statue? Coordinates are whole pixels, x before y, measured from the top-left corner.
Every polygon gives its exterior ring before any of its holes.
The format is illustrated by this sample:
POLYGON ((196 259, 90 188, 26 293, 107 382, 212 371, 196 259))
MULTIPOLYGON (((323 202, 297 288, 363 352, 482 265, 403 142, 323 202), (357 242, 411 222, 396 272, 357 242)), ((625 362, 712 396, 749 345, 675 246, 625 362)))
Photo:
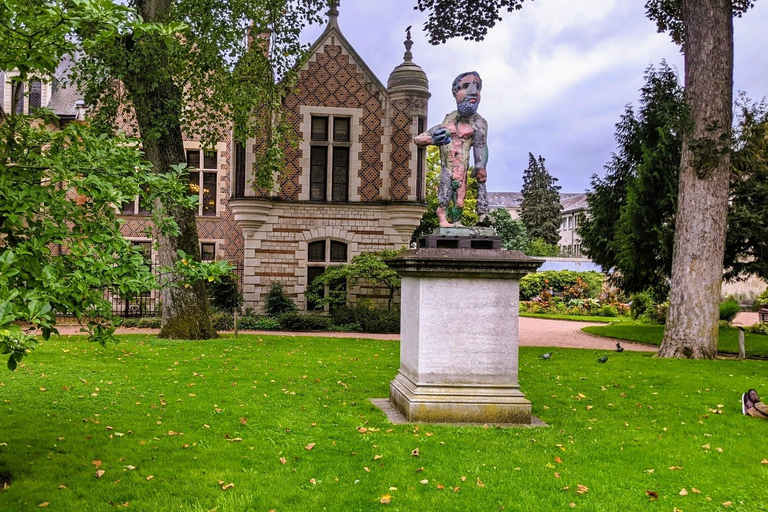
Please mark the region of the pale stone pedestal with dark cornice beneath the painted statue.
POLYGON ((406 251, 400 371, 390 399, 409 421, 531 423, 519 389, 519 280, 541 260, 519 251, 406 251))

